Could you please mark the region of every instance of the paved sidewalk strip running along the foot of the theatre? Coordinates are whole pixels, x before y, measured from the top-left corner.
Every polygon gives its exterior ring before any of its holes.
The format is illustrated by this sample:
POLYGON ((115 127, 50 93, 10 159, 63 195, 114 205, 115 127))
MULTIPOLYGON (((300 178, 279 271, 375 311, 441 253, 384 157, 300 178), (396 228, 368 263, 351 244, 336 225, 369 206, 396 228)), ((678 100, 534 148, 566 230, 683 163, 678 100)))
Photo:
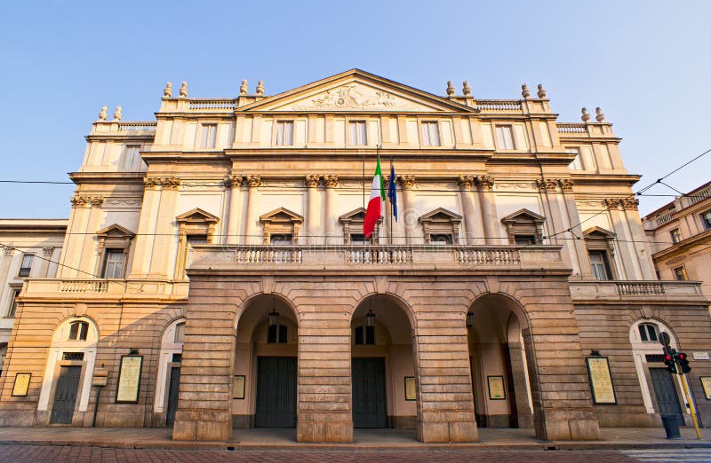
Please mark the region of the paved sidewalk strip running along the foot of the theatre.
POLYGON ((603 428, 601 441, 541 442, 532 429, 480 428, 478 443, 420 443, 413 431, 357 429, 353 443, 297 443, 293 428, 235 429, 229 442, 173 441, 169 428, 0 428, 0 445, 76 445, 131 449, 384 449, 481 448, 482 450, 595 450, 711 448, 711 429, 698 440, 682 428, 681 440, 667 440, 662 428, 603 428))

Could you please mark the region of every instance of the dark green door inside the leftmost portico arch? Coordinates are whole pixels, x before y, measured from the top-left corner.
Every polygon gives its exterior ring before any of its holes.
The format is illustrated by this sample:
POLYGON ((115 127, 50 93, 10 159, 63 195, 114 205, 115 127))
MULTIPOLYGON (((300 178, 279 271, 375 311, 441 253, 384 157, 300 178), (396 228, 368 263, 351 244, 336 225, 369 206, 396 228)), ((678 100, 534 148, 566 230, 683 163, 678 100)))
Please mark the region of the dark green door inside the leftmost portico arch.
POLYGON ((257 413, 254 426, 296 426, 296 357, 257 357, 257 413))

